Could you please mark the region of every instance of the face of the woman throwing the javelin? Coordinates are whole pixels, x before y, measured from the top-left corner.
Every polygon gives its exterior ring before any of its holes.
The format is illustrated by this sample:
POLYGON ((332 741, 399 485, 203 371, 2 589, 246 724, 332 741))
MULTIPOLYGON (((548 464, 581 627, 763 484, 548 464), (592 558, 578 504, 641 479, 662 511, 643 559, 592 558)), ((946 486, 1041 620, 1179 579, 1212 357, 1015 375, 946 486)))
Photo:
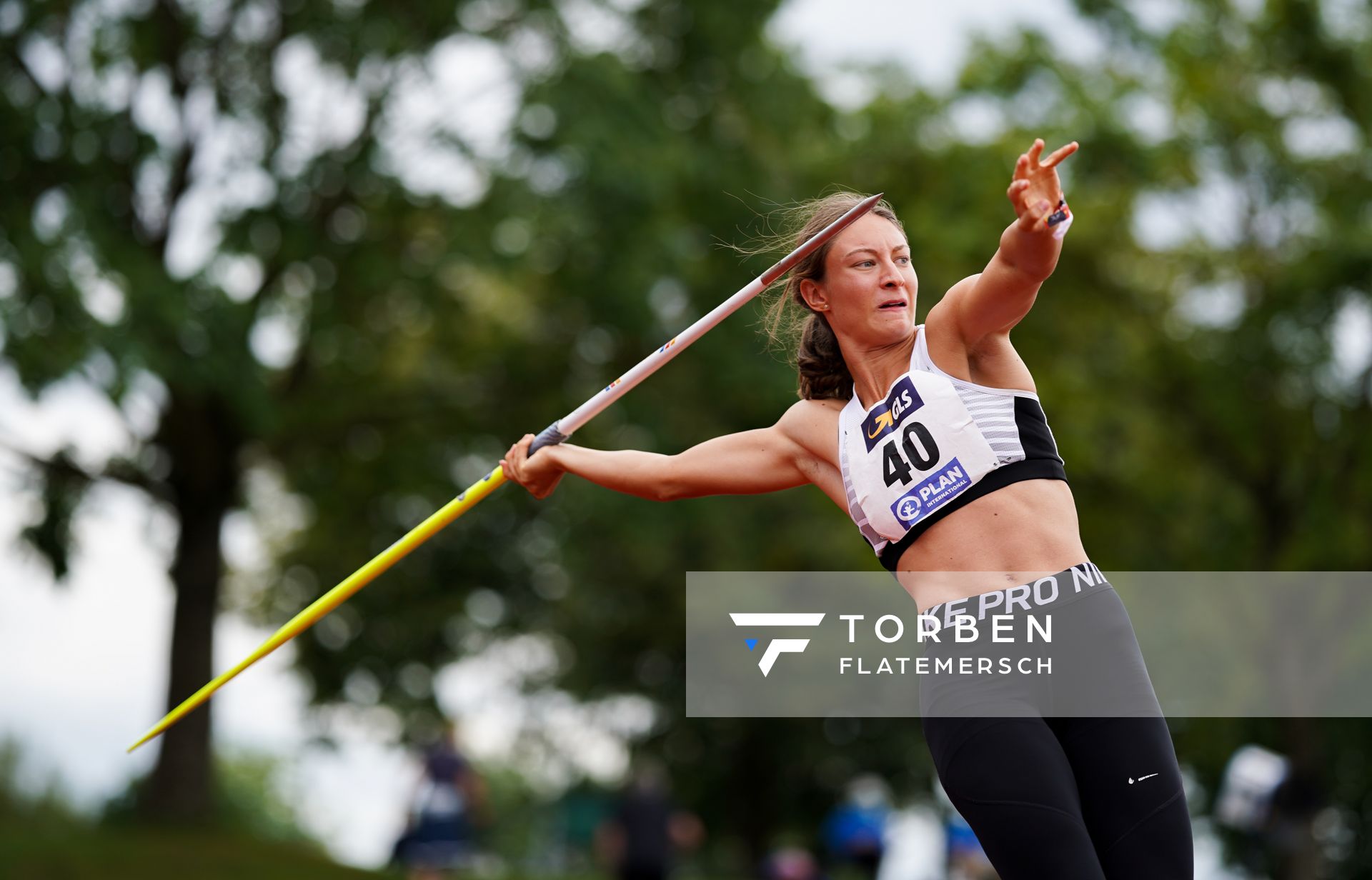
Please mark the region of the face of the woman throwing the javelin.
POLYGON ((834 333, 863 347, 910 336, 918 291, 906 236, 875 214, 838 233, 825 255, 822 281, 800 282, 801 296, 829 318, 834 333))

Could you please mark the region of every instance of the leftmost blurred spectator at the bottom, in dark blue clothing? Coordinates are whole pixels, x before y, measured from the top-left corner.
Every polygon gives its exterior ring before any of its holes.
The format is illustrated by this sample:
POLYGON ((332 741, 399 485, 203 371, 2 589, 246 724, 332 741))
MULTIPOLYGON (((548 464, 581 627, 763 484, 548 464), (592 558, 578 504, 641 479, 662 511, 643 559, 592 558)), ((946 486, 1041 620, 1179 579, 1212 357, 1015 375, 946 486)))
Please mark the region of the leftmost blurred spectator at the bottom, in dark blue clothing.
POLYGON ((424 772, 410 800, 405 833, 395 842, 392 864, 410 880, 434 880, 471 862, 473 828, 484 821, 482 779, 457 748, 451 721, 424 754, 424 772))

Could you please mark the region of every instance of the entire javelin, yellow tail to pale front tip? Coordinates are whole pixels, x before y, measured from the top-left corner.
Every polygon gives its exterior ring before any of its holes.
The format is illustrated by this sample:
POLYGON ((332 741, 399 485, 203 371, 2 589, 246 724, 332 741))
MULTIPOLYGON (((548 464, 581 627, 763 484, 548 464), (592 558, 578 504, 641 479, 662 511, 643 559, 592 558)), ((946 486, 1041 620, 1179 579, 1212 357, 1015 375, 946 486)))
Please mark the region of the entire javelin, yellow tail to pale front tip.
MULTIPOLYGON (((704 336, 707 330, 709 330, 716 323, 731 315, 744 303, 761 293, 771 285, 772 281, 781 278, 783 274, 790 271, 790 269, 794 267, 796 263, 809 256, 818 248, 823 247, 825 243, 827 243, 830 239, 833 239, 840 232, 847 229, 849 223, 852 223, 859 217, 870 211, 873 206, 875 206, 881 200, 882 195, 884 193, 868 196, 867 199, 863 199, 862 201, 855 204, 852 208, 848 210, 847 214, 836 219, 833 223, 829 223, 827 226, 820 229, 803 245, 800 245, 799 248, 783 256, 775 266, 772 266, 763 274, 753 278, 752 282, 748 284, 748 286, 742 288, 741 291, 726 299, 719 306, 715 306, 715 308, 711 310, 709 314, 702 317, 696 323, 690 325, 672 339, 667 340, 667 343, 661 348, 659 348, 653 354, 639 360, 638 365, 628 373, 624 373, 609 385, 605 385, 604 389, 597 392, 594 396, 591 396, 590 400, 587 400, 582 406, 572 410, 567 417, 560 418, 547 428, 545 428, 538 435, 538 437, 534 439, 534 443, 530 444, 528 454, 532 455, 545 445, 563 443, 564 440, 571 437, 578 428, 595 418, 601 413, 601 410, 604 410, 605 407, 608 407, 609 404, 615 403, 622 396, 628 393, 631 388, 634 388, 641 381, 656 373, 659 367, 661 367, 664 363, 675 358, 678 354, 682 352, 682 350, 694 343, 697 339, 704 336)), ((170 728, 173 724, 176 724, 187 714, 189 714, 196 706, 210 699, 210 696, 214 695, 215 691, 228 684, 228 681, 233 679, 236 674, 239 674, 252 663, 258 662, 272 651, 277 650, 295 636, 300 635, 302 632, 313 626, 314 622, 318 621, 321 617, 324 617, 338 606, 343 604, 343 602, 346 602, 348 596, 351 596, 358 589, 362 589, 364 587, 370 584, 377 574, 380 574, 381 572, 387 570, 388 567, 403 559, 406 555, 409 555, 412 550, 427 541, 429 537, 434 536, 435 532, 446 526, 449 522, 457 520, 468 510, 475 507, 477 502, 480 502, 483 498, 494 492, 497 487, 499 487, 504 482, 505 482, 505 472, 499 467, 499 465, 497 465, 493 472, 490 472, 488 474, 473 482, 471 487, 468 487, 465 492, 462 492, 449 503, 443 504, 443 507, 440 507, 436 513, 429 515, 428 520, 410 529, 409 533, 405 535, 405 537, 399 539, 398 541, 395 541, 394 544, 379 552, 370 562, 364 565, 357 572, 348 574, 347 578, 344 578, 338 587, 328 591, 327 594, 316 599, 313 603, 310 603, 303 611, 292 617, 284 626, 277 629, 270 639, 263 641, 255 651, 248 654, 237 666, 222 673, 220 677, 214 679, 203 688, 192 694, 189 698, 187 698, 185 702, 182 702, 180 706, 169 711, 166 717, 162 718, 162 721, 158 721, 151 731, 143 735, 143 739, 129 746, 129 751, 133 751, 143 743, 148 742, 150 739, 158 736, 159 733, 170 728)))

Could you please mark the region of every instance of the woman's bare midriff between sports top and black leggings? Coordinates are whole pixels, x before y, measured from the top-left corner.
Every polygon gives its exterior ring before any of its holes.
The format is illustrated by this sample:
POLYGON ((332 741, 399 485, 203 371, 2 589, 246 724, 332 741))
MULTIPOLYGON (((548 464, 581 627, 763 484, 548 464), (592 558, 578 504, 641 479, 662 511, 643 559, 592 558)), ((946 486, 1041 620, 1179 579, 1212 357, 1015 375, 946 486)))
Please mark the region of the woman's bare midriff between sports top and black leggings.
POLYGON ((1072 488, 1062 480, 1025 480, 929 526, 900 557, 896 577, 925 611, 1085 561, 1072 488))

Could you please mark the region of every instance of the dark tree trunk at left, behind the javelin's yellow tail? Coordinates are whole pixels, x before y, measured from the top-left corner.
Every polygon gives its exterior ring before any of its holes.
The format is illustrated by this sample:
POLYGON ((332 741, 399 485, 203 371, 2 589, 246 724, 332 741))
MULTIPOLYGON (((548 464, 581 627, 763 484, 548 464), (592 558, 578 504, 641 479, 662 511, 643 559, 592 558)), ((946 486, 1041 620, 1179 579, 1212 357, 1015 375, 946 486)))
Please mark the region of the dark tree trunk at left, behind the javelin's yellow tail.
MULTIPOLYGON (((170 711, 214 676, 214 617, 224 573, 220 530, 237 498, 241 441, 222 400, 173 389, 155 443, 172 458, 167 482, 180 522, 170 569, 176 588, 167 679, 170 711)), ((162 735, 158 763, 140 794, 140 814, 155 822, 210 821, 211 755, 207 703, 162 735)))

